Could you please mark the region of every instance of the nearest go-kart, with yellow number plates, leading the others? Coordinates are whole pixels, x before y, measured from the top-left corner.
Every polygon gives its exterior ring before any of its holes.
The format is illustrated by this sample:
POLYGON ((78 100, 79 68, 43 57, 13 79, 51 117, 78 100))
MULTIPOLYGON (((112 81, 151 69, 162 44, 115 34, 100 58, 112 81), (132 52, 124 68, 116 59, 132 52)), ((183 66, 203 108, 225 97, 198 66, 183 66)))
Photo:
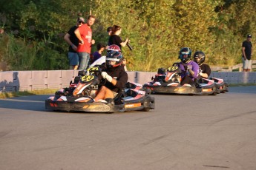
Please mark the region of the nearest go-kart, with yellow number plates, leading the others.
MULTIPOLYGON (((93 101, 97 89, 105 84, 100 66, 79 71, 70 86, 60 89, 45 101, 45 108, 65 112, 125 112, 154 109, 154 98, 148 92, 125 87, 114 99, 93 101), (86 102, 85 102, 86 101, 86 102)), ((129 84, 129 83, 128 83, 129 84)))

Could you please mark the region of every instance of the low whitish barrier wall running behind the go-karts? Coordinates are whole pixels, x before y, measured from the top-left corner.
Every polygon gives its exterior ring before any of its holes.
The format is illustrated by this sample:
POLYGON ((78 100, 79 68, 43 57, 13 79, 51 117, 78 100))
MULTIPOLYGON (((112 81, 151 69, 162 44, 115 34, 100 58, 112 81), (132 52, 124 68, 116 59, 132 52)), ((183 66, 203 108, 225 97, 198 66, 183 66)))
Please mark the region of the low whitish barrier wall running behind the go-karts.
MULTIPOLYGON (((77 70, 0 72, 0 92, 61 89, 68 87, 77 70)), ((144 84, 157 72, 128 72, 128 81, 144 84)), ((223 78, 228 84, 256 84, 256 72, 211 72, 211 77, 223 78)))

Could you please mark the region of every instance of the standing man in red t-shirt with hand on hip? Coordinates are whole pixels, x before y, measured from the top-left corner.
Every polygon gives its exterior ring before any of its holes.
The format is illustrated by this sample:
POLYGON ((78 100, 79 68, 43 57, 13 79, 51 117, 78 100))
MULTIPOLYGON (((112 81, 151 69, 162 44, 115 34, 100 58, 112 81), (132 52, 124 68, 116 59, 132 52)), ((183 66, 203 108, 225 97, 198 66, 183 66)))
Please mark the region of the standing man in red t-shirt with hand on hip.
POLYGON ((91 45, 95 43, 92 39, 91 26, 95 21, 95 16, 88 16, 86 24, 75 30, 75 35, 79 39, 77 52, 79 55, 79 69, 86 69, 90 60, 91 45))

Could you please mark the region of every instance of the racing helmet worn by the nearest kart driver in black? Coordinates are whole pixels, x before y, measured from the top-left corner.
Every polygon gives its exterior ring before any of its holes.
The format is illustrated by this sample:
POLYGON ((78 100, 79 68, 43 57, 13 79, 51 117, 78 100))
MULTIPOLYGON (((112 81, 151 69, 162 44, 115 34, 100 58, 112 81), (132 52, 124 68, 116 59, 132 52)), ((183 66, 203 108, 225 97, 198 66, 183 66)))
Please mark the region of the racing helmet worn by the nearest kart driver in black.
POLYGON ((122 64, 122 54, 118 51, 110 51, 106 57, 106 65, 108 68, 118 67, 122 64), (116 61, 115 64, 111 64, 111 61, 116 61))

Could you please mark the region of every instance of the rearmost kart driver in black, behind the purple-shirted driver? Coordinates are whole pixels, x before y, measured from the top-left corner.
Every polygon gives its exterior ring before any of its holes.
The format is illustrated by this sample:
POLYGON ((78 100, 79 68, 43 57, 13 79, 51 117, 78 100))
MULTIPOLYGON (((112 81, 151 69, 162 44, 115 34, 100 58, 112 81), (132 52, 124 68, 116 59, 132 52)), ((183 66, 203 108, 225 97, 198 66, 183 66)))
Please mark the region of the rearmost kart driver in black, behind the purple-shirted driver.
POLYGON ((206 55, 204 52, 202 52, 202 51, 194 52, 194 61, 200 67, 199 75, 202 78, 208 78, 209 75, 211 75, 211 68, 209 67, 209 65, 203 63, 205 60, 206 60, 206 55))

